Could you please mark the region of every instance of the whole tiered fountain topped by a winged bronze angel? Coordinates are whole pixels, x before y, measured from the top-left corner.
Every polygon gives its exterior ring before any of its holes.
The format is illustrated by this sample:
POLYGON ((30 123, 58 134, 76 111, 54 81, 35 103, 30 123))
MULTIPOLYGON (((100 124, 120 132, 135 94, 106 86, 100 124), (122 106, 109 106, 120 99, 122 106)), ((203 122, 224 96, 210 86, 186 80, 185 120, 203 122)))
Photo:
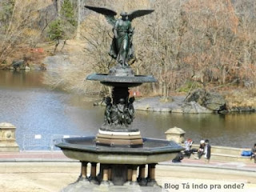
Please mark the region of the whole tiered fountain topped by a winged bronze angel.
POLYGON ((129 94, 130 87, 156 82, 152 76, 134 75, 128 65, 134 54, 130 22, 154 10, 135 10, 130 14, 122 12, 122 18, 117 20, 113 10, 92 6, 86 8, 104 14, 114 26, 110 56, 116 59, 117 65, 108 74, 90 74, 86 78, 113 87, 111 97, 104 98, 104 123, 98 134, 95 137, 62 138, 55 145, 66 157, 79 160, 82 165, 78 181, 62 191, 161 191, 155 181, 156 164, 169 161, 183 148, 175 142, 142 138, 138 127, 132 124, 134 97, 129 94), (88 163, 90 176, 87 173, 88 163))

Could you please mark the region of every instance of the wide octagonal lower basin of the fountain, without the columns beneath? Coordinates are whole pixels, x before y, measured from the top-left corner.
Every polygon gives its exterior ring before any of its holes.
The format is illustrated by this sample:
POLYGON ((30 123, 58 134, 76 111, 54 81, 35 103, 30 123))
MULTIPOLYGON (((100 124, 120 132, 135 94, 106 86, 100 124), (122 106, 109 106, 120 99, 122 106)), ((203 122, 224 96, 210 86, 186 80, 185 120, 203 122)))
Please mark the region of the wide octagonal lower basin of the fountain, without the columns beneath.
POLYGON ((95 137, 62 138, 55 146, 61 148, 66 157, 79 161, 130 165, 169 161, 184 150, 176 142, 142 139, 143 146, 137 148, 97 146, 95 137))

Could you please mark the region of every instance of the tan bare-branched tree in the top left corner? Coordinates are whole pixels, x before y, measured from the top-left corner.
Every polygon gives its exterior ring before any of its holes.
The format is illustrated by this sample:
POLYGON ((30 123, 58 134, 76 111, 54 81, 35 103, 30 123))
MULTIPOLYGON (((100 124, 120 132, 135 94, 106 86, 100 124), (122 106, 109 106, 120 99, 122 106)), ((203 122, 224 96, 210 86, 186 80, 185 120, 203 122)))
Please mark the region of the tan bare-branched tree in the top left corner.
MULTIPOLYGON (((10 0, 3 0, 1 3, 10 5, 10 0)), ((39 14, 38 9, 46 2, 38 3, 36 0, 11 1, 13 6, 9 7, 8 19, 1 24, 0 41, 0 62, 6 60, 10 54, 14 54, 20 46, 33 46, 38 42, 41 31, 37 25, 39 14)), ((3 5, 3 4, 2 4, 3 5)))

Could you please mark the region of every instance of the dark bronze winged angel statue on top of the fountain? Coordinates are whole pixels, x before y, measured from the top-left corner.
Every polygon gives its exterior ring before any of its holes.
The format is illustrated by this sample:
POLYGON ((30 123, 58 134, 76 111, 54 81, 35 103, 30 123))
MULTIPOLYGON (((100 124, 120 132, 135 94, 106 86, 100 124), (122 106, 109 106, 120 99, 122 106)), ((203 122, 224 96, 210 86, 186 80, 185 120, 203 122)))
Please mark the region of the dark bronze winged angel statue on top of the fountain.
POLYGON ((122 12, 121 18, 114 18, 117 14, 114 10, 103 7, 86 6, 89 10, 94 10, 99 14, 104 14, 106 21, 113 26, 114 38, 110 46, 110 56, 117 60, 123 68, 128 66, 131 58, 134 58, 134 46, 132 43, 134 28, 131 22, 134 18, 152 13, 154 10, 134 10, 130 13, 122 12))

